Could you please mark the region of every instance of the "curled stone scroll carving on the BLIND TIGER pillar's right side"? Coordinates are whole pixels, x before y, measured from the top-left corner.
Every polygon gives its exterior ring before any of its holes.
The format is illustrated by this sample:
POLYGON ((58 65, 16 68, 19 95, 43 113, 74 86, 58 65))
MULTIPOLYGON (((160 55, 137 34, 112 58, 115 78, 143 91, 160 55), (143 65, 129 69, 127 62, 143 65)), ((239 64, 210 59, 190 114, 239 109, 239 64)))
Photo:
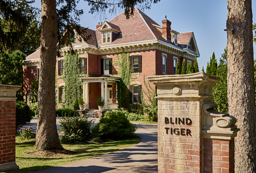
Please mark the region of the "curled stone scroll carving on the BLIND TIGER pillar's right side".
POLYGON ((236 118, 229 113, 218 112, 215 108, 217 108, 215 103, 203 104, 203 134, 207 137, 222 139, 228 139, 232 134, 236 135, 235 132, 239 131, 235 125, 236 118))

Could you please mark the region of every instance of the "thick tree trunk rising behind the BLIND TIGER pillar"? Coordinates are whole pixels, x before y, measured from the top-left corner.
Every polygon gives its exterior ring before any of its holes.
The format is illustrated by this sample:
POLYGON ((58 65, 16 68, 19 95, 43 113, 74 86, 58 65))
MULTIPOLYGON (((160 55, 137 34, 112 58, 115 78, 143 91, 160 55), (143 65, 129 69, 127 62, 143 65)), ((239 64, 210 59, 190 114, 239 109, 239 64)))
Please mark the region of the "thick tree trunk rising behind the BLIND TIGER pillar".
POLYGON ((241 131, 235 138, 235 172, 255 172, 255 87, 252 2, 228 0, 228 112, 241 131))

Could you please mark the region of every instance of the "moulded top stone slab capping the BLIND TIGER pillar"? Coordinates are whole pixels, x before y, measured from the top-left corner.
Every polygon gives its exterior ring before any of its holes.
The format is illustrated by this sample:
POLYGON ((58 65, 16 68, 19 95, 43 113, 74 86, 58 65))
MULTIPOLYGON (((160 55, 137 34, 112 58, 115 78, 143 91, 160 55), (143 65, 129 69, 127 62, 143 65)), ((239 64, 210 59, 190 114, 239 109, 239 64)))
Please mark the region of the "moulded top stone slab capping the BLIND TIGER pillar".
POLYGON ((220 77, 208 75, 205 72, 191 73, 187 75, 157 75, 147 77, 150 83, 196 83, 196 82, 208 82, 208 83, 218 83, 220 77))

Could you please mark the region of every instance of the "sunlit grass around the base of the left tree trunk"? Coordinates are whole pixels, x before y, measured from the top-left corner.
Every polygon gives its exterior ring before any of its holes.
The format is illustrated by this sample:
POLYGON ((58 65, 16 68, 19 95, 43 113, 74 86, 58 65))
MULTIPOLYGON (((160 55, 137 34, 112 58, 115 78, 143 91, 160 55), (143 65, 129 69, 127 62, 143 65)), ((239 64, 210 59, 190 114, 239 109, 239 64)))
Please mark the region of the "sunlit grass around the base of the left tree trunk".
POLYGON ((122 150, 138 144, 139 141, 140 139, 137 137, 101 144, 62 144, 66 150, 75 151, 77 154, 46 157, 25 154, 24 152, 28 150, 35 150, 35 139, 16 137, 16 163, 20 167, 19 172, 31 172, 122 150))

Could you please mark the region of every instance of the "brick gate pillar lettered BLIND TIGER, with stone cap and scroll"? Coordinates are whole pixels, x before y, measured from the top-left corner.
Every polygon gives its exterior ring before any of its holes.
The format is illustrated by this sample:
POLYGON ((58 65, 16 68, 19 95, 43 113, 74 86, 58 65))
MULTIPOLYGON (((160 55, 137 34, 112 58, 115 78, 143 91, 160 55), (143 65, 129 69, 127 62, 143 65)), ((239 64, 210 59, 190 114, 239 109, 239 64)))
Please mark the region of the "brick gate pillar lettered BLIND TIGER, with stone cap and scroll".
POLYGON ((234 172, 236 119, 215 111, 204 72, 148 76, 157 87, 158 172, 234 172))

